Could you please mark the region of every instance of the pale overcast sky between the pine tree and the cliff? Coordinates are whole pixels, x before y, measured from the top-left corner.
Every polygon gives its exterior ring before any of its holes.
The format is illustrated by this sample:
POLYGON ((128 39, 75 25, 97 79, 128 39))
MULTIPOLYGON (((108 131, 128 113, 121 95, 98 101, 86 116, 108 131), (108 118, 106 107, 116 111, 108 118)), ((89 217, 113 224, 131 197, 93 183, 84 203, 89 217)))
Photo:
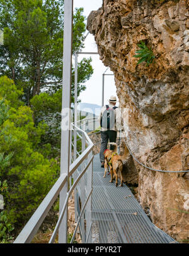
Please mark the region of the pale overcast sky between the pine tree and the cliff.
MULTIPOLYGON (((97 10, 102 6, 102 0, 74 0, 74 9, 75 8, 84 8, 83 15, 88 17, 91 11, 97 10)), ((86 34, 88 30, 86 31, 86 34)), ((97 52, 97 46, 95 43, 95 37, 91 34, 86 37, 84 41, 84 49, 83 52, 97 52)), ((89 58, 89 55, 81 54, 78 58, 78 61, 81 61, 82 58, 89 58)), ((94 69, 93 76, 85 83, 86 90, 81 92, 79 95, 79 99, 81 102, 97 104, 101 106, 101 94, 102 94, 102 74, 106 71, 107 67, 104 66, 102 61, 100 60, 100 56, 91 55, 92 58, 92 66, 94 69)), ((74 64, 74 63, 73 63, 74 64)), ((106 71, 106 74, 113 74, 110 71, 110 68, 106 71)), ((114 76, 105 76, 105 104, 108 104, 108 99, 111 95, 116 95, 116 87, 114 82, 114 76)), ((118 100, 118 99, 117 99, 118 100)))

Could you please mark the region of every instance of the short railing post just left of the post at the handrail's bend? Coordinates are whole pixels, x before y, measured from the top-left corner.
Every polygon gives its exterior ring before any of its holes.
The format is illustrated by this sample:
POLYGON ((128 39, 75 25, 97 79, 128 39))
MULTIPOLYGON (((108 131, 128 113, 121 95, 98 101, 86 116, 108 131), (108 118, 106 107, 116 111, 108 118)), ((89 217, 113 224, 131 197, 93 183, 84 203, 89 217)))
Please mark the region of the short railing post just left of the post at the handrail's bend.
MULTIPOLYGON (((82 152, 84 152, 85 150, 85 144, 86 144, 86 138, 84 133, 82 133, 82 152)), ((83 171, 84 169, 84 161, 81 164, 81 171, 83 171)), ((84 174, 85 176, 85 174, 84 174)), ((84 184, 84 176, 83 178, 81 178, 80 181, 80 190, 81 190, 81 209, 83 208, 84 202, 85 202, 85 184, 84 184)), ((85 238, 86 238, 86 234, 85 234, 85 230, 84 230, 84 212, 83 212, 83 216, 81 217, 81 235, 82 235, 82 243, 85 243, 85 238)))

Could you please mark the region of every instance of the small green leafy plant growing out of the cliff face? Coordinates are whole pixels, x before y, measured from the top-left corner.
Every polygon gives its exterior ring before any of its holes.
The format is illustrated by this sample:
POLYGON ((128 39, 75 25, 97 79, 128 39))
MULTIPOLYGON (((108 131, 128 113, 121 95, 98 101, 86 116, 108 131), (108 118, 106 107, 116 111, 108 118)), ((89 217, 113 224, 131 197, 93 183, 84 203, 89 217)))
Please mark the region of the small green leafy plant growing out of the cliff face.
POLYGON ((154 61, 154 52, 152 52, 152 49, 149 49, 143 41, 140 41, 140 44, 137 44, 137 46, 140 48, 136 51, 136 55, 134 55, 135 58, 140 58, 137 65, 142 62, 146 62, 146 66, 149 66, 149 64, 154 61))

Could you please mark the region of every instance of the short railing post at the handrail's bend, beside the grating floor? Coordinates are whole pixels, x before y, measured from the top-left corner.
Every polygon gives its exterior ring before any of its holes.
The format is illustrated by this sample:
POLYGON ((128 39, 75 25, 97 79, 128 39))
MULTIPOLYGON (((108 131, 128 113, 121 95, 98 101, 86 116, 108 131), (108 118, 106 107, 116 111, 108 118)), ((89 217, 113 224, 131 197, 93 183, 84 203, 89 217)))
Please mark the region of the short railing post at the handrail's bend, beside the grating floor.
MULTIPOLYGON (((93 156, 93 152, 90 152, 88 159, 91 159, 93 156)), ((93 162, 89 165, 88 171, 87 171, 87 195, 91 191, 91 188, 93 187, 93 162)), ((93 193, 92 193, 93 194, 93 193)), ((92 194, 89 198, 88 204, 86 205, 86 234, 89 233, 89 229, 91 227, 91 210, 92 210, 92 194)), ((91 231, 89 233, 88 243, 91 243, 91 231)))

